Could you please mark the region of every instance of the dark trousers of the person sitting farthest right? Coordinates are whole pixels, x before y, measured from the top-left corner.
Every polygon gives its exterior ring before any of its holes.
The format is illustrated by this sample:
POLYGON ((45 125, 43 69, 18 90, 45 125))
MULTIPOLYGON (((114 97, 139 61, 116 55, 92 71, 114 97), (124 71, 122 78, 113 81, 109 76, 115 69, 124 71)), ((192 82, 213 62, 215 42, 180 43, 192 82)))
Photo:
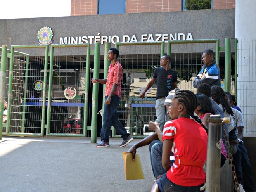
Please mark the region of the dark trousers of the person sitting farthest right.
POLYGON ((237 152, 233 155, 233 159, 238 183, 244 185, 243 188, 246 192, 254 192, 251 164, 248 158, 247 149, 242 142, 239 142, 237 152))

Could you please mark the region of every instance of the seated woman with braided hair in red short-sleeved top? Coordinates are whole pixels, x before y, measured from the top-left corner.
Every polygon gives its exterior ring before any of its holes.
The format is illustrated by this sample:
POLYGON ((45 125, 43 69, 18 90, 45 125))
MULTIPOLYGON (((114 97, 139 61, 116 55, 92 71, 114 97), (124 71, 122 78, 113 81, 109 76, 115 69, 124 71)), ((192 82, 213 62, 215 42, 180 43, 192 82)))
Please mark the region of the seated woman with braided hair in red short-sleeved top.
POLYGON ((167 112, 172 120, 165 123, 162 137, 162 166, 167 173, 154 181, 151 192, 204 191, 207 133, 201 120, 194 116, 196 108, 193 92, 180 90, 173 96, 167 112), (171 152, 175 156, 173 166, 171 152))

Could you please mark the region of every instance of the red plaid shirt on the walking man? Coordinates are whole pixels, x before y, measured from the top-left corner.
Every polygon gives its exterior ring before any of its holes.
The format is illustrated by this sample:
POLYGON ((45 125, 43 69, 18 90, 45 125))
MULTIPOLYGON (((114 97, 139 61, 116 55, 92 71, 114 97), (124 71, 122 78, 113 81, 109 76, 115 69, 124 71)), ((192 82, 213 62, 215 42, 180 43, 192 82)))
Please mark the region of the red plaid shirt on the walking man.
POLYGON ((107 83, 106 83, 106 90, 105 90, 105 97, 107 97, 110 92, 113 84, 116 83, 117 88, 113 95, 117 95, 119 98, 121 97, 121 81, 123 78, 123 68, 121 64, 116 61, 114 64, 110 64, 109 70, 107 72, 107 83))

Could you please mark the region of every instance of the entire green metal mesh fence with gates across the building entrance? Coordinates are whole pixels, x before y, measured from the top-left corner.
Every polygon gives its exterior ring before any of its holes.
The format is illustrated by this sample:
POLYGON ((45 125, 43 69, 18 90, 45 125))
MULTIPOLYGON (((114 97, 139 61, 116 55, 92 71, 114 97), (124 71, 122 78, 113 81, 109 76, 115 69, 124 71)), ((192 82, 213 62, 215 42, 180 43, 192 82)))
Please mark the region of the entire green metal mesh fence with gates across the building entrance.
MULTIPOLYGON (((118 116, 128 132, 137 138, 152 134, 148 123, 156 119, 156 83, 143 99, 140 92, 159 66, 162 55, 171 55, 171 68, 178 72, 178 87, 195 92, 192 83, 203 65, 202 52, 212 49, 216 52, 217 64, 225 66, 219 55, 228 49, 219 47, 218 39, 116 43, 115 46, 123 66, 118 116)), ((96 142, 100 131, 98 111, 104 107, 105 86, 92 85, 90 78, 107 77, 110 47, 110 43, 105 44, 103 59, 97 43, 94 52, 90 51, 89 44, 13 45, 7 53, 4 97, 9 110, 7 124, 2 126, 3 134, 90 136, 92 142, 96 142), (90 58, 92 53, 94 57, 90 58), (103 100, 99 100, 102 97, 103 100)), ((225 70, 231 69, 221 69, 223 79, 225 70)), ((118 137, 114 129, 112 136, 118 137)))

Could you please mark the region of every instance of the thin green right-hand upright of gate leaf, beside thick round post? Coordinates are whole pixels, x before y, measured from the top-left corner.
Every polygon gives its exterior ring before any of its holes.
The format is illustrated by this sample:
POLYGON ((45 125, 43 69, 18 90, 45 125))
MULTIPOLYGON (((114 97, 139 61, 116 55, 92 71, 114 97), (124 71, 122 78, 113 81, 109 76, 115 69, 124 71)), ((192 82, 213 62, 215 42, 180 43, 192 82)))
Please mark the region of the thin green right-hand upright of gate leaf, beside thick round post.
POLYGON ((88 122, 88 93, 90 85, 90 44, 87 45, 87 55, 86 55, 86 72, 85 72, 85 107, 83 109, 83 135, 87 137, 87 122, 88 122))

